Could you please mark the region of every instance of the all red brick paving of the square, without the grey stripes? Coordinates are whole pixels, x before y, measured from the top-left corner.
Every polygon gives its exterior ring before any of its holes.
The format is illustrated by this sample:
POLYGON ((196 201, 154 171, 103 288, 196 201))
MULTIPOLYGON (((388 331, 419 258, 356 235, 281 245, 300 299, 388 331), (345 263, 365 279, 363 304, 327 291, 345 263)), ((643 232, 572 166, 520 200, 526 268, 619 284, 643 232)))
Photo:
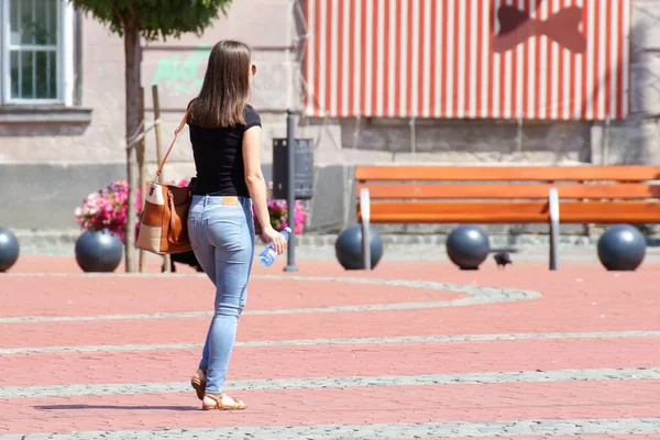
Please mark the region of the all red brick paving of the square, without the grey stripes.
MULTIPOLYGON (((70 258, 69 258, 70 260, 70 258)), ((12 271, 76 271, 63 258, 23 258, 12 271), (47 264, 47 271, 38 264, 47 264)), ((157 261, 152 268, 156 272, 157 261)), ((279 266, 255 273, 284 275, 279 266)), ((450 263, 382 263, 372 273, 336 263, 299 262, 296 275, 427 279, 539 290, 541 299, 419 310, 244 316, 239 340, 422 334, 660 330, 660 265, 607 273, 596 264, 515 263, 460 272, 450 263)), ((190 273, 191 271, 188 271, 190 273)), ((0 277, 1 316, 74 316, 201 311, 191 286, 206 278, 0 277), (163 293, 150 283, 163 283, 163 293), (95 290, 103 284, 111 288, 95 290), (132 292, 127 288, 133 287, 132 292), (21 290, 24 293, 21 295, 21 290), (36 290, 36 292, 35 292, 36 290), (34 295, 30 295, 34 293, 34 295), (1 295, 6 295, 1 297, 1 295), (74 299, 70 299, 74 298, 74 299), (68 304, 73 300, 74 304, 68 304)), ((206 283, 206 285, 205 285, 206 283)), ((450 294, 451 295, 451 294, 450 294)), ((448 299, 447 293, 392 286, 255 279, 249 310, 448 299), (316 290, 316 292, 315 292, 316 290)), ((200 343, 209 318, 0 323, 2 348, 128 343, 200 343)), ((658 338, 452 342, 352 346, 237 349, 230 378, 469 373, 521 370, 659 366, 658 338)), ((0 360, 0 386, 76 383, 186 382, 199 350, 15 354, 0 360), (94 373, 92 373, 94 371, 94 373), (32 373, 31 375, 29 373, 32 373), (94 375, 94 376, 92 376, 94 375)), ((185 428, 249 425, 487 421, 518 418, 658 417, 660 381, 542 382, 244 391, 244 413, 199 411, 190 393, 0 399, 4 432, 185 428), (64 405, 64 407, 62 407, 64 405), (85 407, 88 405, 89 407, 85 407), (48 408, 48 406, 51 408, 48 408), (57 408, 57 406, 61 406, 57 408)), ((0 432, 2 432, 0 430, 0 432)), ((526 437, 542 439, 544 437, 526 437)), ((657 436, 552 437, 553 440, 657 436)), ((522 440, 522 437, 515 438, 522 440)))

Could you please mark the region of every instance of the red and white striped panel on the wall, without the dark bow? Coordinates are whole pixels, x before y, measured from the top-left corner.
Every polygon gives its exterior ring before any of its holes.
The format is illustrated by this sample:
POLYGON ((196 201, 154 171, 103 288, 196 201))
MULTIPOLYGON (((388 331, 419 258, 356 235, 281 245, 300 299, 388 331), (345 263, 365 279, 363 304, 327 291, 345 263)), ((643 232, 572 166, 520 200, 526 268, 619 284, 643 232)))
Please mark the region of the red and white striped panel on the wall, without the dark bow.
MULTIPOLYGON (((304 75, 315 117, 605 120, 628 114, 630 0, 306 0, 304 75), (544 33, 504 53, 497 11, 537 29, 582 13, 586 51, 544 33)), ((575 30, 556 30, 556 32, 575 30)))

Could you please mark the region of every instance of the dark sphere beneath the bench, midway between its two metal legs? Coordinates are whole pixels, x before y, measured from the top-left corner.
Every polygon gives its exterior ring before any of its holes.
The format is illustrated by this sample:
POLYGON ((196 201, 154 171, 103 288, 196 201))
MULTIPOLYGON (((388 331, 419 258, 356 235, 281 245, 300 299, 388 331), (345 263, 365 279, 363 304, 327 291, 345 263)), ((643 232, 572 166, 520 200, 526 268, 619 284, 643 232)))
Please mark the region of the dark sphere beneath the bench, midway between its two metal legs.
POLYGON ((463 271, 475 271, 491 252, 488 234, 477 224, 461 224, 447 238, 447 255, 463 271))

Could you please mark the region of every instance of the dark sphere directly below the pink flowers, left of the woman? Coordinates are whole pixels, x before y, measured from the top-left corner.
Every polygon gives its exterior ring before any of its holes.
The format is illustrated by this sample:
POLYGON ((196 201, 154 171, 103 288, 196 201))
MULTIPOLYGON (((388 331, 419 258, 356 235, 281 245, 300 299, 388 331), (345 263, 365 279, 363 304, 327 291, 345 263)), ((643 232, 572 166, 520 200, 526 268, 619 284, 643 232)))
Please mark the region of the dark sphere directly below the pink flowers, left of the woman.
POLYGON ((110 231, 85 231, 76 241, 76 262, 84 272, 114 272, 123 244, 110 231))

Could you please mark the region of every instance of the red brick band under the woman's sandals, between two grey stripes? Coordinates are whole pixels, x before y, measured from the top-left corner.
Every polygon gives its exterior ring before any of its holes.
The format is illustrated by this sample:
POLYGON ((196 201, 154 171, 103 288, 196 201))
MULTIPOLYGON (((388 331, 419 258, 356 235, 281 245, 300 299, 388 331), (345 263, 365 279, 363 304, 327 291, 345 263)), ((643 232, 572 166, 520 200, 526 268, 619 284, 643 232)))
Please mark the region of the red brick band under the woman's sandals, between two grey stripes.
MULTIPOLYGON (((228 391, 245 411, 198 410, 195 393, 0 399, 10 431, 657 417, 660 381, 228 391), (18 407, 16 407, 18 405, 18 407), (35 424, 34 419, 46 418, 35 424), (23 428, 21 428, 23 427, 23 428)), ((35 432, 35 431, 33 431, 35 432)))

